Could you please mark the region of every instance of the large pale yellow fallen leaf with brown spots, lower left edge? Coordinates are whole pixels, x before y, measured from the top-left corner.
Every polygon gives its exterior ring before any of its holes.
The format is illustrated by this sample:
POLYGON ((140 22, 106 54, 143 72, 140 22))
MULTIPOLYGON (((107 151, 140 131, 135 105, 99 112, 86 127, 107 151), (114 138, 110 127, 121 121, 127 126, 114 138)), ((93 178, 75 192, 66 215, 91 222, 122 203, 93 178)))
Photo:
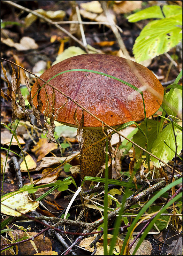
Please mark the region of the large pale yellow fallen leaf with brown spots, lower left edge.
MULTIPOLYGON (((4 199, 4 198, 2 198, 4 199)), ((39 206, 39 202, 33 201, 29 196, 28 192, 24 191, 22 193, 11 196, 5 199, 1 203, 1 212, 10 216, 21 216, 21 213, 28 213, 35 211, 39 206), (17 211, 14 211, 14 210, 17 211)))

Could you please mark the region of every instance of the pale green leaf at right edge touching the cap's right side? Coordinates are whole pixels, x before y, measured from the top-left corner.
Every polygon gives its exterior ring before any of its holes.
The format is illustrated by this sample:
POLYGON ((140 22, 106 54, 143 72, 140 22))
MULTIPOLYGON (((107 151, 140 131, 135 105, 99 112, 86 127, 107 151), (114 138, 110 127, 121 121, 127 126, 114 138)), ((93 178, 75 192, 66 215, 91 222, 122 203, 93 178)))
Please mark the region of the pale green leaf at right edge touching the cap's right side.
MULTIPOLYGON (((167 99, 169 92, 164 95, 164 98, 167 99)), ((166 101, 165 101, 166 102, 166 101)), ((164 104, 163 104, 164 106, 164 104)), ((178 112, 182 109, 182 90, 174 89, 172 95, 167 103, 166 112, 168 115, 177 116, 178 112)))

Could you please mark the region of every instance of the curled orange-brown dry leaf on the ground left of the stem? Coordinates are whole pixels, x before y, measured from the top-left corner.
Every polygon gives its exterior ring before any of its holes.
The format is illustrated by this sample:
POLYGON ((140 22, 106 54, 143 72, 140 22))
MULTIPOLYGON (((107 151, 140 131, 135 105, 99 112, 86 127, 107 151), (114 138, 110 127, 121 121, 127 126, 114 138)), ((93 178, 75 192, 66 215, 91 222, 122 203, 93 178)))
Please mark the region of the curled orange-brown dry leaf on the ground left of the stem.
POLYGON ((40 138, 38 143, 34 145, 32 152, 35 153, 35 156, 37 157, 37 162, 39 162, 48 153, 57 148, 57 144, 53 142, 49 143, 49 140, 47 138, 40 138))

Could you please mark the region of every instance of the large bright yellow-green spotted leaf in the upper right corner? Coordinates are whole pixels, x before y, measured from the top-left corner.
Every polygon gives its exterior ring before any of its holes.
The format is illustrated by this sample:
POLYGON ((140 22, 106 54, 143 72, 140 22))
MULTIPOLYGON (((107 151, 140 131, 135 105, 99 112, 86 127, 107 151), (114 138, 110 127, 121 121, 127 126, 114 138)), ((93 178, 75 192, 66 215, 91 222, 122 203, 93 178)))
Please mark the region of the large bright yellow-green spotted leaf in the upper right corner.
POLYGON ((149 22, 135 40, 133 54, 137 62, 154 58, 169 51, 182 39, 179 33, 182 15, 149 22))

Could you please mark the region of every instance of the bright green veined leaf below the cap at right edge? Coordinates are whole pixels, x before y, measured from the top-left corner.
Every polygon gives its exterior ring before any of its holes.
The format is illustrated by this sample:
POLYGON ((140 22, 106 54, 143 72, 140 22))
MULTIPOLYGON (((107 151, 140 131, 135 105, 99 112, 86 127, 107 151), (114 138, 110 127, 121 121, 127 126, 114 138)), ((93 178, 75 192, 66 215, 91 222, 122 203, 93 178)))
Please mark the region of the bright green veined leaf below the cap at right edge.
MULTIPOLYGON (((179 155, 182 150, 182 132, 174 127, 176 140, 177 140, 177 154, 179 155)), ((158 135, 156 140, 152 145, 151 153, 156 157, 163 160, 165 163, 168 163, 169 160, 172 160, 175 156, 175 153, 164 143, 168 144, 172 150, 175 151, 175 137, 173 134, 172 124, 168 124, 163 131, 158 135)), ((154 162, 154 166, 159 168, 160 163, 154 157, 151 157, 151 160, 154 162)), ((163 165, 163 163, 161 163, 163 165)))

